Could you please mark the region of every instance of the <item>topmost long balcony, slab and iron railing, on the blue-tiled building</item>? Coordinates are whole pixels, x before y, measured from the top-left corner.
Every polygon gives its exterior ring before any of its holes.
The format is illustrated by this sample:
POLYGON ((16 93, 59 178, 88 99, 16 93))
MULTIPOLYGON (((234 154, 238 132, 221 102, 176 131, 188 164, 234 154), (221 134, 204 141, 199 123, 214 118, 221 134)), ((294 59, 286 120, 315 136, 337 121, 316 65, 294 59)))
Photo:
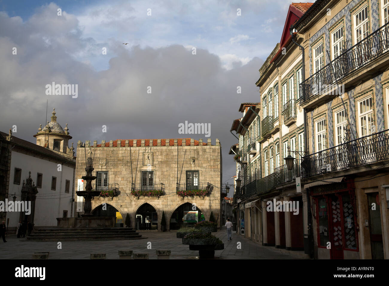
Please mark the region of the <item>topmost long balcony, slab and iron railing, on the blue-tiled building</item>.
POLYGON ((300 105, 304 108, 313 107, 321 101, 344 93, 348 87, 359 84, 372 68, 375 72, 385 70, 389 63, 388 51, 389 23, 303 81, 300 84, 300 105), (336 81, 338 84, 344 84, 343 91, 342 86, 336 86, 336 81))

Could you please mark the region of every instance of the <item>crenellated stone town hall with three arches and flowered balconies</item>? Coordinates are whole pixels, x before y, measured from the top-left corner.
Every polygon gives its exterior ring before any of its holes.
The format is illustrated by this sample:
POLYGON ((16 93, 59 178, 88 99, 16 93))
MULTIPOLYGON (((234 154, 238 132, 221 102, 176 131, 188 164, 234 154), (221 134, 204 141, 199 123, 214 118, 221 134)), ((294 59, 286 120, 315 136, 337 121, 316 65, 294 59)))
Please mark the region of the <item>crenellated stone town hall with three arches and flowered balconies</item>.
MULTIPOLYGON (((116 226, 123 226, 129 214, 131 227, 161 230, 164 211, 166 230, 172 230, 200 221, 202 214, 209 220, 213 212, 220 226, 225 194, 219 139, 215 145, 211 139, 103 140, 93 146, 79 141, 74 191, 85 188, 81 177, 89 151, 96 176, 92 186, 102 191, 92 200, 93 214, 116 216, 116 226)), ((74 209, 75 217, 82 214, 82 197, 75 196, 74 209)))

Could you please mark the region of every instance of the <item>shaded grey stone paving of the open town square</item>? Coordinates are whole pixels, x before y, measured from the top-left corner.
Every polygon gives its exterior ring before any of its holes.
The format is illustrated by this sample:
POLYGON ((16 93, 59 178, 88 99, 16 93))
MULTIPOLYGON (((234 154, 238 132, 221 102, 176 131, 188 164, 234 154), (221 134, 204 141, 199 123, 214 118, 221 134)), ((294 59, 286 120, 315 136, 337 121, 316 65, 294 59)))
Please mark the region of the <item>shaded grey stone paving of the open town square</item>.
MULTIPOLYGON (((118 259, 118 251, 131 249, 134 253, 149 253, 150 259, 157 259, 156 250, 171 250, 170 259, 198 259, 198 251, 189 250, 176 238, 176 232, 140 232, 147 239, 140 240, 103 240, 62 242, 62 249, 57 249, 57 242, 32 242, 9 235, 7 242, 0 242, 1 259, 31 259, 34 252, 49 251, 49 259, 89 259, 90 253, 106 253, 108 259, 118 259), (151 242, 152 249, 147 249, 151 242)), ((227 241, 225 230, 212 233, 224 242, 224 250, 215 251, 217 259, 301 259, 301 255, 285 249, 265 247, 245 239, 242 235, 232 235, 227 241), (237 242, 242 249, 237 249, 237 242)))

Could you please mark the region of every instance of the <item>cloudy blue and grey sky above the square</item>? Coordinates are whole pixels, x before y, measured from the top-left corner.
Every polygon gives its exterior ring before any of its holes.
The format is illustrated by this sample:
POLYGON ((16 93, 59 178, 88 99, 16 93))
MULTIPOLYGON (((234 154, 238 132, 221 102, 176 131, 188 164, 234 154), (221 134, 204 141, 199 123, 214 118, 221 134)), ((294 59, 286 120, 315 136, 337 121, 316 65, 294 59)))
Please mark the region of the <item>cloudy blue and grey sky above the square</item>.
POLYGON ((258 70, 281 38, 289 4, 0 0, 0 130, 16 125, 15 136, 35 142, 32 135, 45 125, 46 100, 48 118, 55 107, 75 145, 206 140, 179 134, 178 125, 210 123, 212 144, 219 138, 223 148, 223 182, 232 183, 235 163, 228 150, 237 139, 229 130, 241 117, 240 103, 259 101, 258 70), (78 97, 46 95, 51 82, 78 84, 78 97))

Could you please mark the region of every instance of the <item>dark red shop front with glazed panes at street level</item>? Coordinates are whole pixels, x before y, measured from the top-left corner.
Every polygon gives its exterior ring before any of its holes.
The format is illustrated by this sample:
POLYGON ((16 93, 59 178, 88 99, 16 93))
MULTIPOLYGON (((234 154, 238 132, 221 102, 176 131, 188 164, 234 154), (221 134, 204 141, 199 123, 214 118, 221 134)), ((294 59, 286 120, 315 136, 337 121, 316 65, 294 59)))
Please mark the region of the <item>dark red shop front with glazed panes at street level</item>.
POLYGON ((358 252, 354 182, 344 181, 310 188, 312 214, 316 220, 318 258, 353 258, 358 252), (325 254, 322 255, 321 254, 325 254), (347 256, 347 257, 345 257, 347 256))

